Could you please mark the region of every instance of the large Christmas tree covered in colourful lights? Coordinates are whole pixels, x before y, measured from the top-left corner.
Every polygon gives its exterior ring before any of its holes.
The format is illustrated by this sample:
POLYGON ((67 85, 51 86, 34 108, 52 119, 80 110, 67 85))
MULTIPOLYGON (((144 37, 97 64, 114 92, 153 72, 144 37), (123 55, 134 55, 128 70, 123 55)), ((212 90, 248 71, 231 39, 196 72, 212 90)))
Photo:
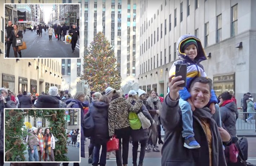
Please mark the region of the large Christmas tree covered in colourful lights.
POLYGON ((91 42, 88 55, 84 56, 84 75, 92 91, 105 91, 108 86, 120 89, 121 77, 116 69, 114 49, 102 32, 98 32, 91 42))

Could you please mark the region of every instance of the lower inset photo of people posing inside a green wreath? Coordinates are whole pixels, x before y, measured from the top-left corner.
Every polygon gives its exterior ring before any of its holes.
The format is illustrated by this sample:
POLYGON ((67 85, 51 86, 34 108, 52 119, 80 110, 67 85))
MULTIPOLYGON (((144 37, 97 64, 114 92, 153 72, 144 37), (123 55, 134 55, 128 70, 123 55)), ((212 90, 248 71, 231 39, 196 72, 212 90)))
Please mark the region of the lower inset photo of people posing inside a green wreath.
POLYGON ((80 162, 80 109, 4 113, 4 162, 80 162))

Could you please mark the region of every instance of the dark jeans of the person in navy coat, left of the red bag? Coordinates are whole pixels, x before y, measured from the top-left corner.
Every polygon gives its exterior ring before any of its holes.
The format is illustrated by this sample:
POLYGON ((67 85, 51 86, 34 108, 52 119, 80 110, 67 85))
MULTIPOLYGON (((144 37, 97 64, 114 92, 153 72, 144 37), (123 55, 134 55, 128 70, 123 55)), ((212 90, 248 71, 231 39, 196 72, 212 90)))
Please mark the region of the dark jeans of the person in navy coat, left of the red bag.
POLYGON ((98 163, 100 163, 100 165, 106 165, 106 158, 107 158, 107 143, 103 145, 95 144, 93 149, 92 164, 98 165, 98 163), (101 146, 102 146, 102 149, 101 149, 101 146), (101 149, 101 158, 100 158, 100 149, 101 149))

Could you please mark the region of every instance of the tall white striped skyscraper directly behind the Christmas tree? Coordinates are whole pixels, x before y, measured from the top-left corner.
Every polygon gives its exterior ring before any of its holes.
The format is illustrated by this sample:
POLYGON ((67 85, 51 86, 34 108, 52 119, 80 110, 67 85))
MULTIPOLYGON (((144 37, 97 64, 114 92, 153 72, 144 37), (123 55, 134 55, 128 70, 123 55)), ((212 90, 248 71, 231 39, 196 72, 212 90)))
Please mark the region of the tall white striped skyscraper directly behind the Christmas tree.
MULTIPOLYGON (((114 48, 117 58, 117 68, 122 77, 122 85, 127 82, 138 82, 139 71, 139 51, 140 51, 140 20, 137 14, 140 11, 139 0, 83 0, 81 11, 84 11, 84 20, 81 21, 80 45, 84 45, 81 50, 82 55, 87 55, 87 50, 93 37, 97 32, 102 31, 105 37, 114 48)), ((72 1, 73 3, 73 1, 72 1)), ((74 2, 76 3, 76 2, 74 2)), ((83 13, 82 13, 83 14, 83 13)), ((81 47, 80 47, 81 48, 81 47)), ((75 92, 75 85, 83 74, 83 57, 81 59, 71 59, 69 69, 67 59, 62 59, 62 75, 69 81, 69 85, 75 92), (73 67, 72 67, 73 66, 73 67), (67 71, 70 72, 67 72, 67 71), (70 73, 70 75, 68 75, 70 73)))

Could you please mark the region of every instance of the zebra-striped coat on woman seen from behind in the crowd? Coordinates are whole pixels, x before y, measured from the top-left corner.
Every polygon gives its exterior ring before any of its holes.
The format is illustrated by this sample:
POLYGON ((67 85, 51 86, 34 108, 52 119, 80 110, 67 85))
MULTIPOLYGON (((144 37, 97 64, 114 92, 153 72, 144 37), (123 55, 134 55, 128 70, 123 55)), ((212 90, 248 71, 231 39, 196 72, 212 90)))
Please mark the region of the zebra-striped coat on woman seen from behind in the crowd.
POLYGON ((129 112, 138 112, 140 111, 141 106, 141 100, 138 100, 138 102, 136 102, 134 106, 123 97, 112 100, 108 109, 109 136, 113 136, 115 134, 115 130, 117 129, 124 129, 126 127, 129 127, 129 112))

